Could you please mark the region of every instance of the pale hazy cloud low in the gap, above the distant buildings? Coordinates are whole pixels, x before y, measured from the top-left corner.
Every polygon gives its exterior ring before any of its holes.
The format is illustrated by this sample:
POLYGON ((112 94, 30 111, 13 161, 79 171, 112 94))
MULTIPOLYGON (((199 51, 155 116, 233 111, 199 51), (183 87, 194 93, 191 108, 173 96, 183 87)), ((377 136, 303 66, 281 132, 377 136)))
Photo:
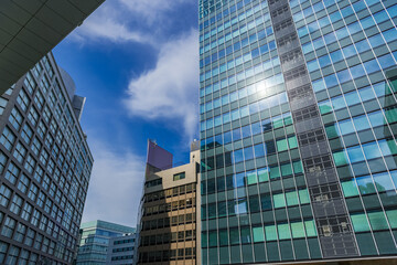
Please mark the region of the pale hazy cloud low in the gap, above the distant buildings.
POLYGON ((135 226, 144 158, 131 151, 117 153, 100 141, 89 144, 95 161, 82 222, 104 220, 135 226))

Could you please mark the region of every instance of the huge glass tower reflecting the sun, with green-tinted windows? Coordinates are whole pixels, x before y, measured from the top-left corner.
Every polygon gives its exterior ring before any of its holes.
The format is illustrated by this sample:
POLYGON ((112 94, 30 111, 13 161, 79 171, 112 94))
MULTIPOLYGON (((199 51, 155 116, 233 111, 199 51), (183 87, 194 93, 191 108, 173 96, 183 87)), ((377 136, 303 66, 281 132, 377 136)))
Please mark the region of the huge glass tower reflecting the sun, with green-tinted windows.
POLYGON ((396 257, 396 15, 200 1, 202 264, 396 257))

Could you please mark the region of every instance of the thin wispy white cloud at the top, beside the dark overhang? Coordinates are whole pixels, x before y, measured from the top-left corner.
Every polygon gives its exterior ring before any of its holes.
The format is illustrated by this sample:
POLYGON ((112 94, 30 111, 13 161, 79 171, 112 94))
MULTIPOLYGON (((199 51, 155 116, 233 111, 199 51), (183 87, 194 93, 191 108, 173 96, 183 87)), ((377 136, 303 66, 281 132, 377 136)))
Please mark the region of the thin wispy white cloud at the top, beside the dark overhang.
MULTIPOLYGON (((158 44, 167 38, 174 20, 172 12, 192 0, 112 0, 105 1, 72 34, 79 43, 87 41, 137 42, 158 44), (164 34, 165 33, 165 34, 164 34)), ((183 21, 181 21, 183 23, 183 21)))

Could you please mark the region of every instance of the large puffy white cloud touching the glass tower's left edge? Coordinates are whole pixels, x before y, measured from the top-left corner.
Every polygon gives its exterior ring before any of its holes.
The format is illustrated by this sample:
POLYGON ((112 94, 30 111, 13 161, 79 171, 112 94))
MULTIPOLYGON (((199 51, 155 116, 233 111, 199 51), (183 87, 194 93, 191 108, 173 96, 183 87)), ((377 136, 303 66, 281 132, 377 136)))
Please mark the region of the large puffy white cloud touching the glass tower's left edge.
POLYGON ((192 140, 197 131, 198 33, 162 45, 153 70, 132 78, 125 105, 130 115, 146 119, 163 118, 175 129, 184 128, 192 140))

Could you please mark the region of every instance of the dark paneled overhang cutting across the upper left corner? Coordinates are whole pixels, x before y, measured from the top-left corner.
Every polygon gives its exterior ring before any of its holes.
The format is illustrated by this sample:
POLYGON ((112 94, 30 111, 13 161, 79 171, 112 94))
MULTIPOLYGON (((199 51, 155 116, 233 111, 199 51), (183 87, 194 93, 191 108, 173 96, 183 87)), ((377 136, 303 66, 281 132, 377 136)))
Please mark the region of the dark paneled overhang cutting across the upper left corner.
POLYGON ((105 0, 0 0, 0 95, 105 0))

